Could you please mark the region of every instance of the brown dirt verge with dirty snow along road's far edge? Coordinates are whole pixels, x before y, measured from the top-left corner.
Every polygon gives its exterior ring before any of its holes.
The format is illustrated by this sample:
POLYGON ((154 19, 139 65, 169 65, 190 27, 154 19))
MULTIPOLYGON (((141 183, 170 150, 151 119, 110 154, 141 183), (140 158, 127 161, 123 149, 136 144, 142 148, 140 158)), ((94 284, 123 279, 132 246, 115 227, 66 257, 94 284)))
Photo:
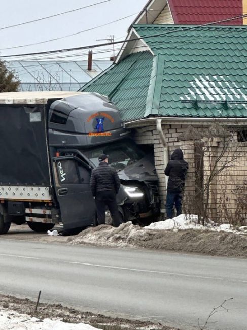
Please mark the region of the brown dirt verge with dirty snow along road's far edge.
MULTIPOLYGON (((57 227, 59 229, 59 227, 57 227)), ((20 239, 46 243, 81 244, 109 247, 131 247, 215 256, 247 258, 247 237, 227 232, 201 230, 147 230, 130 222, 118 228, 108 225, 90 227, 75 236, 48 236, 34 233, 27 225, 11 225, 1 239, 20 239)))

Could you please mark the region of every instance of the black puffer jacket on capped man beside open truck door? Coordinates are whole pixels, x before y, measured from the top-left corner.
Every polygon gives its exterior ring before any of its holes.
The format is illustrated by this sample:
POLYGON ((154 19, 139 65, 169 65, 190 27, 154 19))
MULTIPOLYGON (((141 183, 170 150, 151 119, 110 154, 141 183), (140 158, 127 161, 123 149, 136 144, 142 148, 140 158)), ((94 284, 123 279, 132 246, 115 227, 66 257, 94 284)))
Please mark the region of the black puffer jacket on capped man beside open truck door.
POLYGON ((90 187, 93 196, 99 191, 113 190, 116 194, 120 188, 120 179, 117 171, 107 162, 102 161, 96 169, 93 169, 90 187))

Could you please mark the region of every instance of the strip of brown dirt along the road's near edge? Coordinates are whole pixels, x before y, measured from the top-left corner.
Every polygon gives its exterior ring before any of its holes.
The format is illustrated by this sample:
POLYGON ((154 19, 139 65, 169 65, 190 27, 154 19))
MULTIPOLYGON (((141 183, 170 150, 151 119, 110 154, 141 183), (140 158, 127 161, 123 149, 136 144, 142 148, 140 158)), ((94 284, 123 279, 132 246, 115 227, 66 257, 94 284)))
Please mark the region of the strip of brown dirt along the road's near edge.
POLYGON ((35 311, 36 302, 32 302, 29 299, 15 298, 9 295, 0 294, 0 301, 0 305, 6 310, 27 314, 41 320, 52 318, 53 320, 59 319, 68 323, 87 323, 104 330, 179 330, 164 326, 160 323, 112 318, 90 312, 80 312, 60 304, 40 303, 37 311, 35 311))

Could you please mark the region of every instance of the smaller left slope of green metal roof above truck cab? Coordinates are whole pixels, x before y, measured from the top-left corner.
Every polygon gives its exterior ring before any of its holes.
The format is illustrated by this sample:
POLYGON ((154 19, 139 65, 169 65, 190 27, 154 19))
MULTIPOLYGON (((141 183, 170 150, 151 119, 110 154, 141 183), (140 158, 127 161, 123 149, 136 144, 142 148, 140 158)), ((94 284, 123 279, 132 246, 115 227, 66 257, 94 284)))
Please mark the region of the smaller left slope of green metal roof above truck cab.
POLYGON ((149 51, 132 54, 81 90, 108 96, 119 108, 123 121, 143 118, 152 63, 149 51))

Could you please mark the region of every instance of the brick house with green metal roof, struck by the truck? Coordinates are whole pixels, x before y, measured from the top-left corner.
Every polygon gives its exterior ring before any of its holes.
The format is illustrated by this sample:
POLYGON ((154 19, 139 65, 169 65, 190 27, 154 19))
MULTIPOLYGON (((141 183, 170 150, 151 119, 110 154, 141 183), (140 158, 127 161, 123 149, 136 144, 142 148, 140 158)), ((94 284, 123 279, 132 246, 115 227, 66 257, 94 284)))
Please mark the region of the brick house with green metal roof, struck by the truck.
POLYGON ((233 191, 242 189, 247 175, 247 26, 144 24, 133 25, 133 31, 142 47, 128 41, 117 64, 82 90, 107 95, 120 109, 126 128, 134 130, 135 141, 153 146, 161 202, 167 154, 183 149, 190 166, 186 191, 193 199, 212 166, 208 159, 224 149, 221 127, 227 126, 234 134, 223 158, 232 162, 221 178, 210 182, 209 203, 211 214, 219 217, 224 191, 224 208, 233 217, 233 191), (195 173, 196 150, 209 131, 214 131, 210 150, 200 154, 203 178, 195 173))

